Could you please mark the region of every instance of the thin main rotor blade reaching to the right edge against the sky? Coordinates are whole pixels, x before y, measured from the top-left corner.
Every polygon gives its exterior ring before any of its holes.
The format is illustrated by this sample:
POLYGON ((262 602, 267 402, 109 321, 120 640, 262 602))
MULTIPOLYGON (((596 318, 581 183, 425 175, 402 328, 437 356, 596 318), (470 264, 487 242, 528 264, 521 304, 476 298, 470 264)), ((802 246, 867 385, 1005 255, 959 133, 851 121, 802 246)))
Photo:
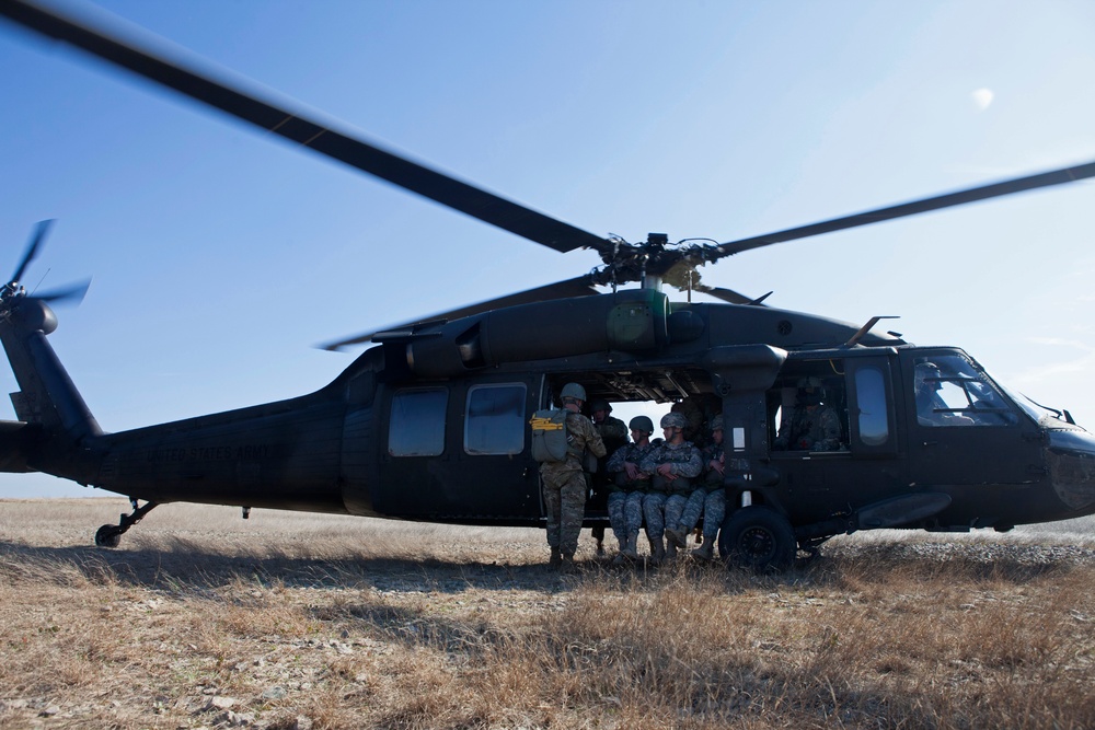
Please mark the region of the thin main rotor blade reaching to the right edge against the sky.
POLYGON ((957 193, 947 193, 931 198, 923 198, 922 200, 913 200, 911 202, 902 202, 896 206, 868 210, 853 216, 845 216, 843 218, 833 218, 832 220, 821 221, 820 223, 792 228, 776 233, 768 233, 765 235, 757 235, 750 239, 722 243, 714 247, 714 254, 708 253, 704 256, 704 259, 717 260, 724 256, 731 256, 734 254, 739 254, 742 251, 760 248, 761 246, 770 246, 773 243, 783 243, 785 241, 805 239, 811 235, 830 233, 832 231, 842 231, 849 228, 879 223, 881 221, 902 218, 904 216, 917 216, 919 213, 940 210, 942 208, 964 206, 967 202, 998 198, 1004 195, 1014 195, 1015 193, 1034 190, 1039 187, 1064 185, 1065 183, 1073 183, 1093 176, 1095 176, 1095 162, 1088 162, 1075 167, 1062 167, 1060 170, 1027 175, 1025 177, 1015 177, 1001 183, 991 183, 989 185, 971 187, 966 190, 958 190, 957 193))

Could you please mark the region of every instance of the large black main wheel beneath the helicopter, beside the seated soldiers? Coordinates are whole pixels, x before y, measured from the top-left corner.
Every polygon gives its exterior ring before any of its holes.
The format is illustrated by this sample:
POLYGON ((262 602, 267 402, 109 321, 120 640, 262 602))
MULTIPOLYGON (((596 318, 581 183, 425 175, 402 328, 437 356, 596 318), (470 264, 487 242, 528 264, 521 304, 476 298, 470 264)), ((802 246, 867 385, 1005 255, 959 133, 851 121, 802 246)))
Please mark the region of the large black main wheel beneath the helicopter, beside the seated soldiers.
POLYGON ((727 514, 718 533, 718 552, 730 565, 757 572, 794 565, 798 543, 786 518, 770 507, 753 505, 727 514))

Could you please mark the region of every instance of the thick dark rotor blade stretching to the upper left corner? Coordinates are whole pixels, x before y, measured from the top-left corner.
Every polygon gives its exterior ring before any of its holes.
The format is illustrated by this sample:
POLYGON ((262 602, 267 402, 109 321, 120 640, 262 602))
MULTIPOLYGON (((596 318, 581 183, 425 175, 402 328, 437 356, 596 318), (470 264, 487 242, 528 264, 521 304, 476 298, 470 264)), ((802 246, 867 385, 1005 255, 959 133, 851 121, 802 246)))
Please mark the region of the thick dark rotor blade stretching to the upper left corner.
POLYGON ((567 252, 588 246, 606 253, 612 248, 604 239, 569 223, 326 128, 268 101, 187 69, 182 62, 157 56, 148 49, 112 36, 102 28, 67 19, 50 9, 26 0, 0 0, 0 15, 7 15, 43 35, 70 43, 320 154, 555 251, 567 252))

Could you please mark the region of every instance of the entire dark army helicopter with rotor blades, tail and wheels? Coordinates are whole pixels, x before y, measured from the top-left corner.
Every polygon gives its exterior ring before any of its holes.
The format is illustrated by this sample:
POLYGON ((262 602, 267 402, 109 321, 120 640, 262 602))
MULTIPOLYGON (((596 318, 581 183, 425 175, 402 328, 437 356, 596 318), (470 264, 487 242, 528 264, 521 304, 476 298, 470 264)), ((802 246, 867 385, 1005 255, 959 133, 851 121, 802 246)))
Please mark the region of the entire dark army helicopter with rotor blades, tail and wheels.
MULTIPOLYGON (((19 392, 0 424, 0 468, 38 471, 129 497, 103 525, 120 535, 157 505, 188 501, 434 522, 539 525, 543 501, 530 417, 568 382, 589 399, 693 405, 721 414, 727 517, 721 552, 756 566, 856 530, 1006 531, 1095 512, 1095 438, 1068 412, 1010 393, 958 348, 766 306, 670 301, 660 290, 698 265, 774 243, 1087 178, 1095 162, 728 243, 650 234, 604 239, 326 129, 23 0, 0 13, 336 161, 560 252, 603 266, 573 279, 370 332, 327 386, 278 403, 104 432, 46 336, 54 296, 19 283, 32 237, 0 290, 0 339, 19 392), (641 288, 623 289, 641 282, 641 288), (611 287, 599 293, 596 287, 611 287), (779 449, 800 383, 839 415, 840 445, 779 449), (140 501, 145 503, 140 505, 140 501)), ((763 299, 763 298, 762 298, 763 299)), ((688 408, 685 408, 688 410, 688 408)), ((603 524, 603 513, 587 514, 603 524)))

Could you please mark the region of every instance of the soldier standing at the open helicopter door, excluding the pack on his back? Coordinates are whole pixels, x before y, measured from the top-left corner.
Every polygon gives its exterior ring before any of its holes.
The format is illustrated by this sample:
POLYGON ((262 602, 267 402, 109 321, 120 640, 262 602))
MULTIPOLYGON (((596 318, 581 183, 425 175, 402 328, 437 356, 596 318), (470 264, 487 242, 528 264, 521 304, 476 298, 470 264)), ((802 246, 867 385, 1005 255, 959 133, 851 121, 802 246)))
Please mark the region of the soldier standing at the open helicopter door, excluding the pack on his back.
POLYGON ((551 547, 553 569, 569 569, 578 549, 578 535, 586 515, 586 475, 583 456, 588 449, 597 457, 604 455, 604 442, 588 418, 581 415, 586 389, 578 383, 567 383, 561 393, 566 415, 566 459, 544 462, 540 477, 544 484, 544 502, 548 506, 548 546, 551 547))

